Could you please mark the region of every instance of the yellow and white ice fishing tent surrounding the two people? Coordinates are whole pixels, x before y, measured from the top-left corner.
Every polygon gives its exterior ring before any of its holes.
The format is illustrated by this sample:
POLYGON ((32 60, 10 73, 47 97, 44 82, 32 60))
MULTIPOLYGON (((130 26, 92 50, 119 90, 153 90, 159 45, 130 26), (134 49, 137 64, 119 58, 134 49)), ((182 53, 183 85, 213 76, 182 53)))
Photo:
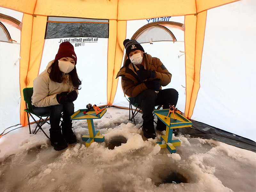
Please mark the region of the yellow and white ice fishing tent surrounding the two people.
POLYGON ((254 0, 1 0, 0 131, 26 125, 22 90, 70 41, 86 104, 126 107, 125 38, 172 73, 186 117, 256 140, 254 0), (185 55, 182 55, 185 52, 185 55))

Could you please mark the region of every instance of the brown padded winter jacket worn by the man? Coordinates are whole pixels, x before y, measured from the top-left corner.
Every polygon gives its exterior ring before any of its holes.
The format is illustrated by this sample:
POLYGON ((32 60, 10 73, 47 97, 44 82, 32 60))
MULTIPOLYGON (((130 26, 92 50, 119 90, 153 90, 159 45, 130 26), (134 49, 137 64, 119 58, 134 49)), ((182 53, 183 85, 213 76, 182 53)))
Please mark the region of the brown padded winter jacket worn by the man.
MULTIPOLYGON (((152 79, 160 79, 160 85, 166 86, 171 82, 172 74, 164 67, 163 63, 156 57, 151 57, 147 53, 143 53, 143 61, 145 69, 155 70, 156 76, 152 79)), ((124 66, 117 73, 117 77, 122 77, 122 87, 124 94, 129 97, 136 97, 140 92, 148 89, 145 83, 142 83, 137 74, 129 68, 132 65, 131 62, 125 62, 124 66)), ((161 87, 160 87, 161 88, 161 87)))

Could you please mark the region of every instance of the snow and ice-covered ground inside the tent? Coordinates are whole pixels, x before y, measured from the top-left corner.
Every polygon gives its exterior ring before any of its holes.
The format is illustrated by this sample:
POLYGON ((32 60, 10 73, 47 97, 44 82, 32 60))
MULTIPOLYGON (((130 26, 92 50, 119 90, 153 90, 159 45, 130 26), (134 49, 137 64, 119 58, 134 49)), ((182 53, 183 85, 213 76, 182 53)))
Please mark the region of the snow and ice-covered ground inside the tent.
MULTIPOLYGON (((41 131, 28 134, 28 126, 4 135, 0 190, 256 191, 256 153, 216 140, 173 135, 181 146, 170 154, 155 145, 165 132, 157 132, 155 140, 141 136, 141 114, 136 116, 139 124, 133 126, 129 110, 107 110, 94 120, 105 142, 88 148, 81 138, 89 134, 86 120, 73 121, 78 143, 62 151, 55 151, 41 131), (108 149, 118 140, 127 142, 108 149)), ((49 134, 48 124, 44 130, 49 134)))

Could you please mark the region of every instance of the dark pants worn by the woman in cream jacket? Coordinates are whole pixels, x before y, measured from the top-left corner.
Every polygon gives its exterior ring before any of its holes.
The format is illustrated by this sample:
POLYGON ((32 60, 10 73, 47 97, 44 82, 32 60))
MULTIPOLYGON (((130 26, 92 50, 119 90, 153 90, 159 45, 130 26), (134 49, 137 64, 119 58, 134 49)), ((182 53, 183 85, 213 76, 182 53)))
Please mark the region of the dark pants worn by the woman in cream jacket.
POLYGON ((36 115, 41 116, 50 113, 50 132, 59 132, 60 129, 60 118, 63 112, 63 124, 72 127, 72 120, 70 116, 74 113, 74 103, 69 102, 65 105, 52 105, 49 107, 35 107, 33 111, 36 115))

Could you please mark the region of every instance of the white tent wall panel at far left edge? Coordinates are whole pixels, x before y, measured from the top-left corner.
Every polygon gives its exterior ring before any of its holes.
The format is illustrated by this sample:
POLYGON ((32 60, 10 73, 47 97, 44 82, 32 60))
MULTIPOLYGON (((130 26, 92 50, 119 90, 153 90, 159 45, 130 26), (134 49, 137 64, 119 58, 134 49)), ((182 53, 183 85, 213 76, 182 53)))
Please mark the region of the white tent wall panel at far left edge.
MULTIPOLYGON (((23 13, 0 7, 0 12, 21 21, 23 13)), ((20 124, 20 30, 1 21, 17 43, 0 42, 0 130, 20 124)))

